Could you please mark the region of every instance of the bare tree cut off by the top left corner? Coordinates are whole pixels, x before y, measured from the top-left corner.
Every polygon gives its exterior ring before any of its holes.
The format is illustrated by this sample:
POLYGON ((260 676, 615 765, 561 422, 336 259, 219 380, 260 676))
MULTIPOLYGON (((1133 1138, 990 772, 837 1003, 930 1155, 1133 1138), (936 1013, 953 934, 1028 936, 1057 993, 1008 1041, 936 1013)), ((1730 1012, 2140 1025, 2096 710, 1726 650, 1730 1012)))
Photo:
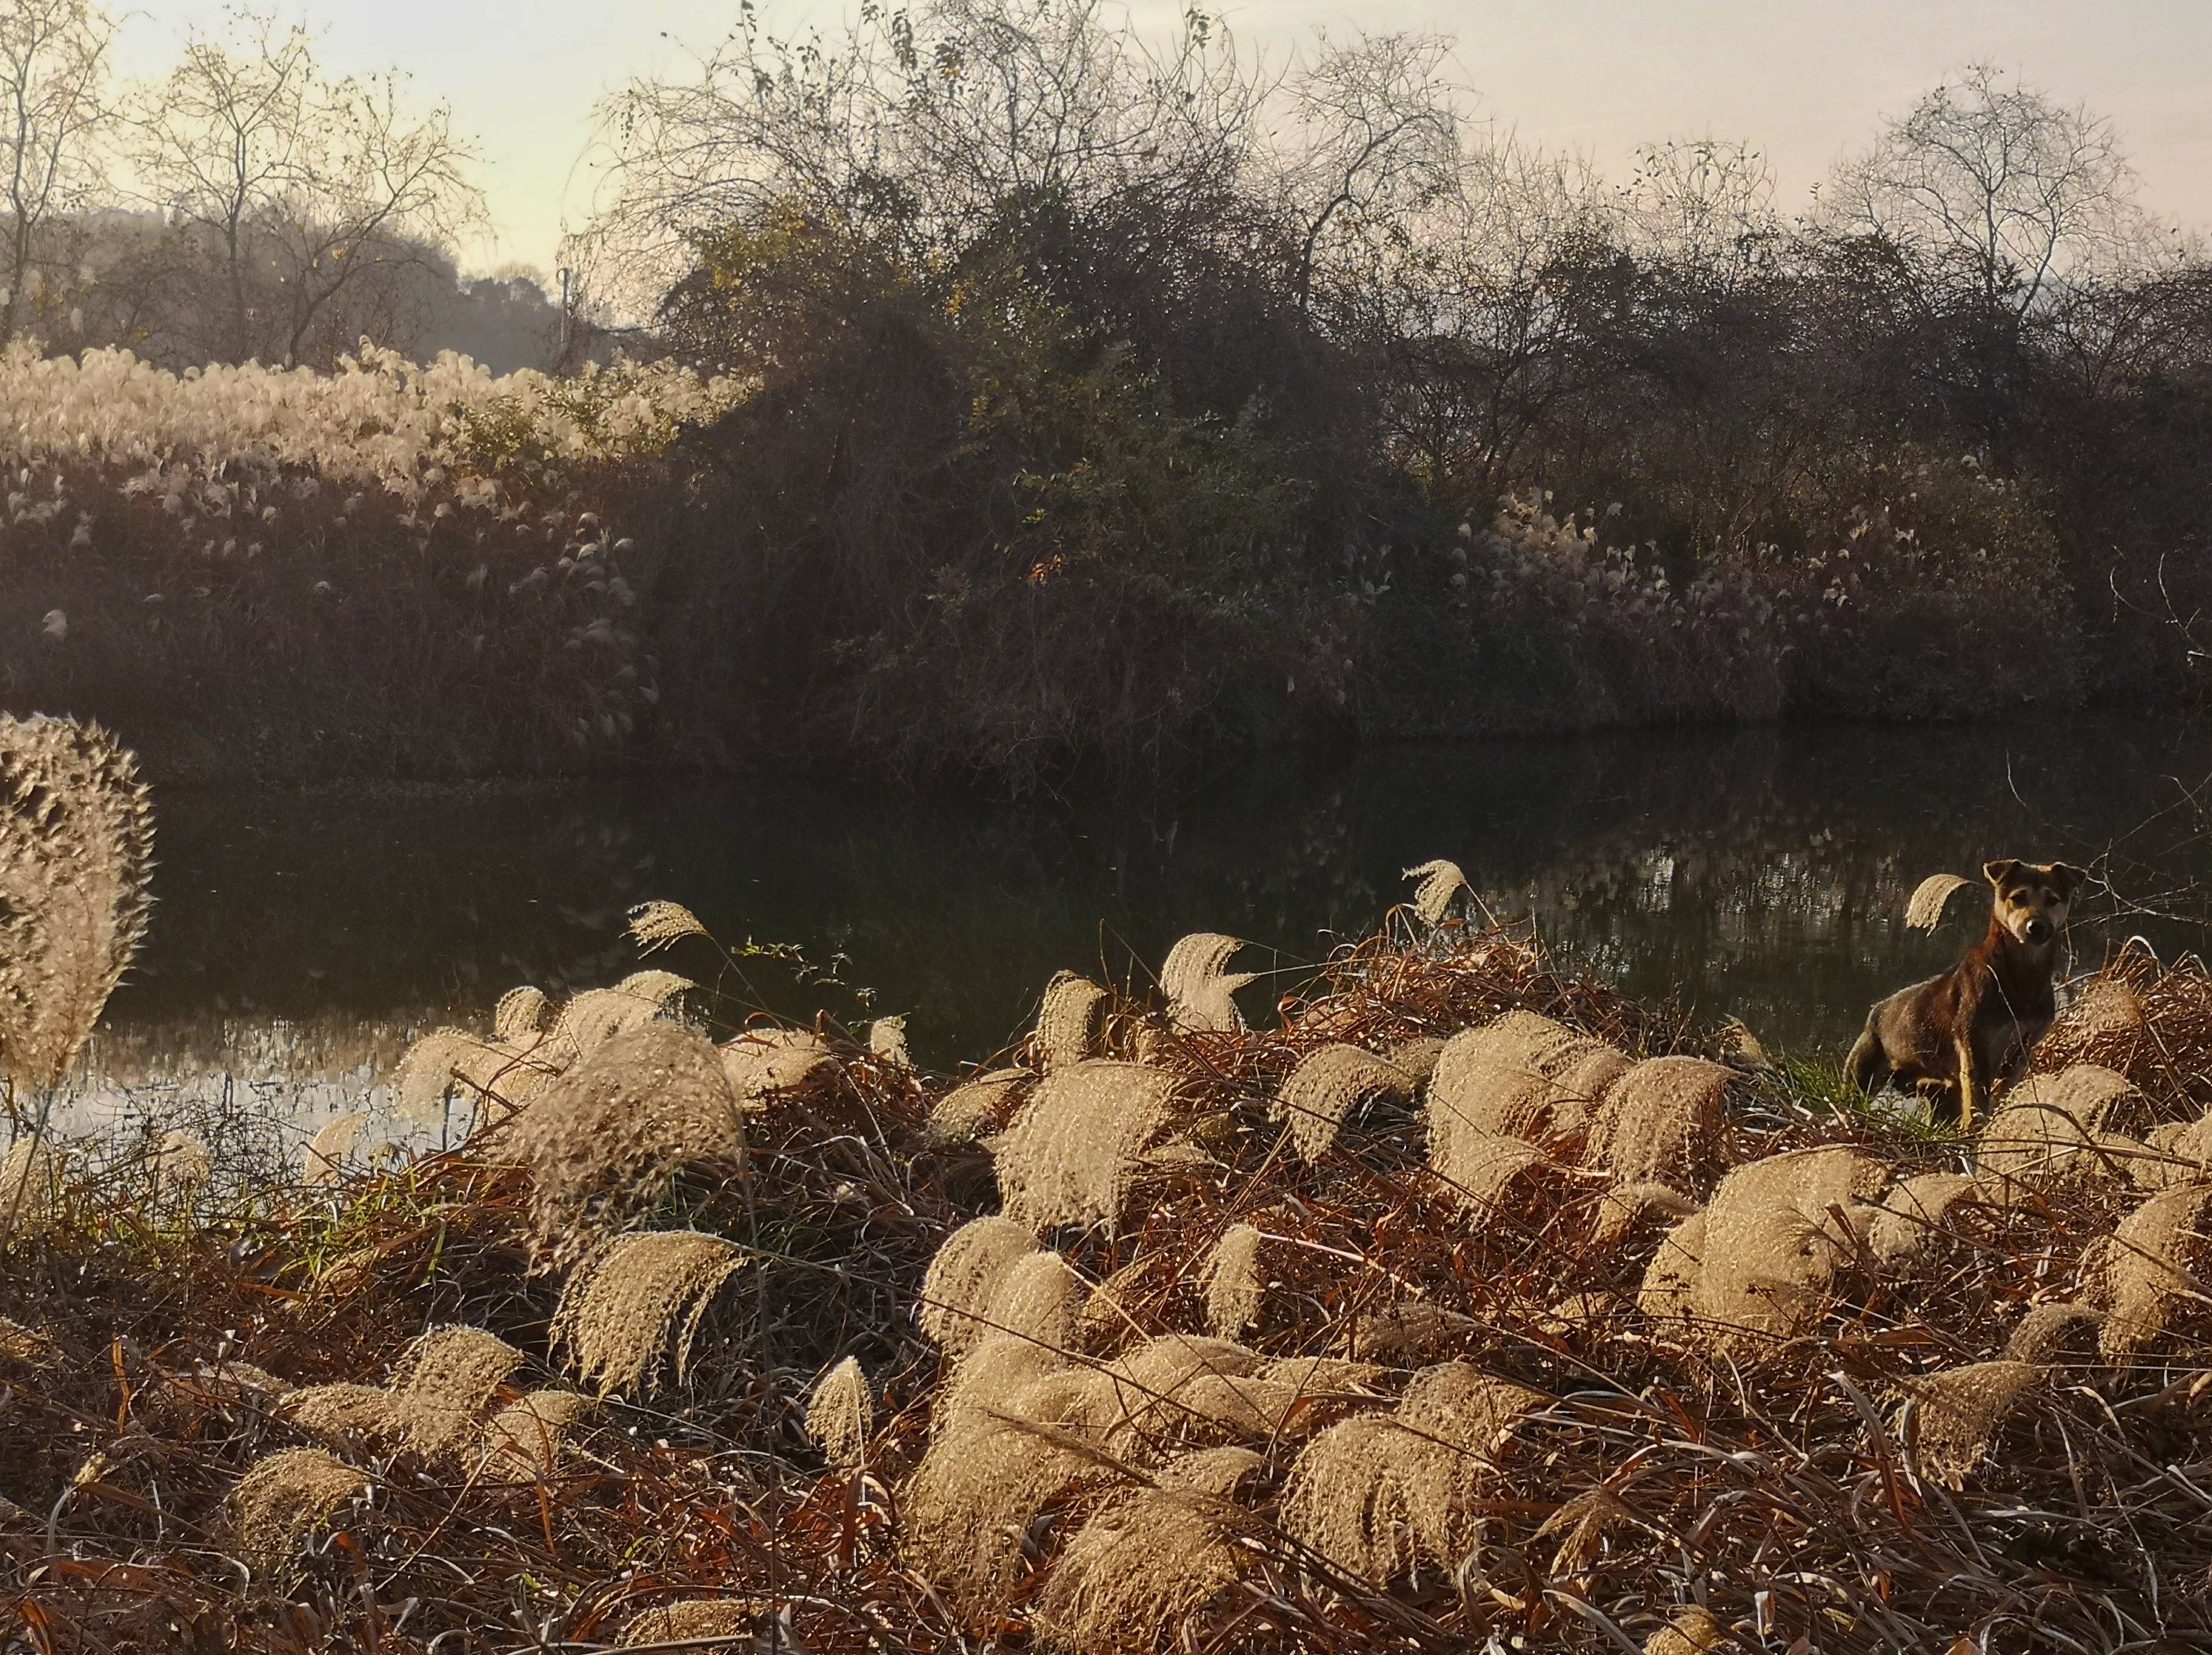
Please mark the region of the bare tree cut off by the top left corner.
POLYGON ((97 177, 91 144, 111 117, 106 57, 115 24, 91 0, 0 4, 0 179, 7 272, 0 340, 31 298, 40 234, 97 177))

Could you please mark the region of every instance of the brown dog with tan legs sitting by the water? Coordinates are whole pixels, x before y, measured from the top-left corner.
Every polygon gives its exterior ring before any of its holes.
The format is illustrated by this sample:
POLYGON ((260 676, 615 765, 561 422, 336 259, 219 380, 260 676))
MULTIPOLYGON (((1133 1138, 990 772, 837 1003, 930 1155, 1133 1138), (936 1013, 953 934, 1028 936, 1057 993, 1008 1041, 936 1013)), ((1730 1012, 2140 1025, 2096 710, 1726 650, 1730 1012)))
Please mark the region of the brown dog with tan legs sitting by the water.
POLYGON ((1902 988, 1867 1012, 1843 1061, 1851 1085, 1885 1081, 1933 1092, 1938 1120, 1973 1131, 1975 1105, 2013 1085, 2051 1027, 2059 930, 2088 879, 2064 862, 1984 862, 1995 888, 1989 935, 1942 977, 1902 988))

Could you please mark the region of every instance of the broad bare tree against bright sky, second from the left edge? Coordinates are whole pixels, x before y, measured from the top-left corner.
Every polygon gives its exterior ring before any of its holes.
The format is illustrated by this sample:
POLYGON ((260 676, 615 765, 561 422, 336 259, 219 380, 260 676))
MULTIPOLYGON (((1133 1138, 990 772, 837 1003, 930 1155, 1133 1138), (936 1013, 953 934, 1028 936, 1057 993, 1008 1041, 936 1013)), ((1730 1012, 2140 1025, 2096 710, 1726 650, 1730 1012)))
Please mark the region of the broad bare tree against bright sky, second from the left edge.
POLYGON ((319 336, 327 356, 356 312, 389 325, 394 276, 482 214, 447 106, 411 113, 398 75, 325 80, 303 29, 252 13, 186 42, 135 130, 148 197, 212 265, 230 360, 296 362, 319 336))

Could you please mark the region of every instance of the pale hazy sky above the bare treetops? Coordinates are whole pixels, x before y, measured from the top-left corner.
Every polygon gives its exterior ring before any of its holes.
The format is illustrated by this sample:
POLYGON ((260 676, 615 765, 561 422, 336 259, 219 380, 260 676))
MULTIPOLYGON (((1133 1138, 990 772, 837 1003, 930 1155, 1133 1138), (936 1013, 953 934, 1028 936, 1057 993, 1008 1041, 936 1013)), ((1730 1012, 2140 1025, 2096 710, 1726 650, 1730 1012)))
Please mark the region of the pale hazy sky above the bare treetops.
MULTIPOLYGON (((270 4, 272 0, 263 0, 270 4)), ((858 0, 854 0, 856 4, 858 0)), ((482 148, 495 245, 471 263, 551 270, 562 219, 591 201, 577 168, 591 108, 633 75, 728 31, 726 0, 274 0, 323 33, 327 68, 398 66, 453 104, 482 148)), ((1172 22, 1172 0, 1135 7, 1172 22)), ((157 73, 223 0, 137 0, 126 73, 157 73)), ((845 0, 759 0, 774 33, 832 27, 845 0)), ((1765 148, 1787 205, 1885 113, 1989 60, 2115 117, 2152 210, 2212 228, 2208 0, 1245 0, 1237 35, 1281 57, 1316 27, 1458 40, 1482 110, 1522 139, 1577 148, 1608 175, 1635 144, 1741 137, 1765 148)))

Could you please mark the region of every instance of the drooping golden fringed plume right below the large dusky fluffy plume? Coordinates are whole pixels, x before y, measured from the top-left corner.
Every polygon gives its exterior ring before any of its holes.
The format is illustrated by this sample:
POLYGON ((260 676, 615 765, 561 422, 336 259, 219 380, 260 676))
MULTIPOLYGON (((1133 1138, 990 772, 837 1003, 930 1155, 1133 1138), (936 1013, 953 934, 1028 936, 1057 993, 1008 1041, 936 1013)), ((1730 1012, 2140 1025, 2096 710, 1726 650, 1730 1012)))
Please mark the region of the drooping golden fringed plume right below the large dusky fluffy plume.
POLYGON ((701 1231, 617 1235, 571 1271, 551 1343, 599 1396, 650 1394, 664 1354, 681 1383, 699 1321, 741 1264, 737 1246, 701 1231))

